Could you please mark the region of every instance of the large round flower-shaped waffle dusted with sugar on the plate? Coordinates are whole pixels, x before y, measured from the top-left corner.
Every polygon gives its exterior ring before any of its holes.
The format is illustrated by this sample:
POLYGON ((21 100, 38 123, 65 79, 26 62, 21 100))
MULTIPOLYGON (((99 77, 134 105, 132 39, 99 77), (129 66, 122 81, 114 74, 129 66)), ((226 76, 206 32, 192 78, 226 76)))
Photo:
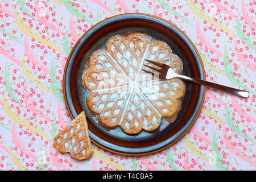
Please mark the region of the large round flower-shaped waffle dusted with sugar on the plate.
POLYGON ((155 81, 148 77, 142 69, 150 63, 144 59, 170 65, 176 73, 183 64, 167 43, 136 32, 126 35, 113 36, 105 50, 90 56, 82 75, 84 88, 90 92, 86 104, 107 129, 119 126, 126 134, 151 132, 158 129, 162 118, 174 121, 185 84, 178 78, 155 81))

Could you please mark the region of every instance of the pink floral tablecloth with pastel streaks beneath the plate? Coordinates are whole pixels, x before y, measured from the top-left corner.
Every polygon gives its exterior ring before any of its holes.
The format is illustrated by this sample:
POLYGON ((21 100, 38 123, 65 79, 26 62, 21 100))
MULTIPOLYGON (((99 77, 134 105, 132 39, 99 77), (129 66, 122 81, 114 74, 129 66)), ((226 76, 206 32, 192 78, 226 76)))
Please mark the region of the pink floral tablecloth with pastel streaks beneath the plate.
POLYGON ((256 2, 201 0, 0 1, 1 170, 255 170, 256 2), (91 159, 61 154, 53 137, 70 121, 63 97, 69 52, 110 16, 147 13, 184 31, 200 52, 206 80, 245 89, 239 98, 207 88, 195 125, 147 156, 93 144, 91 159))

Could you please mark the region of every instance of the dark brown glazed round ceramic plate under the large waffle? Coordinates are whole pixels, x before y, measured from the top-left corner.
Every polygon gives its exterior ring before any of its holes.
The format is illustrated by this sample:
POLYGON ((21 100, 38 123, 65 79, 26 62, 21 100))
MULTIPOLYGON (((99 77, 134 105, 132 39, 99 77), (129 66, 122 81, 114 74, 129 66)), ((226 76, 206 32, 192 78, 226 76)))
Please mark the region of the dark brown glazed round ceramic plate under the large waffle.
POLYGON ((164 19, 146 14, 122 14, 105 19, 88 30, 68 57, 64 72, 64 98, 68 111, 75 118, 85 111, 89 135, 97 146, 122 155, 146 155, 170 147, 181 139, 195 123, 203 106, 204 86, 185 82, 186 91, 182 109, 173 123, 162 119, 159 129, 152 133, 127 135, 118 127, 106 130, 98 125, 86 106, 88 92, 82 88, 82 70, 90 55, 97 49, 104 49, 106 41, 114 35, 127 31, 146 33, 156 40, 163 40, 172 52, 183 61, 181 74, 204 79, 204 67, 195 46, 178 28, 164 19))

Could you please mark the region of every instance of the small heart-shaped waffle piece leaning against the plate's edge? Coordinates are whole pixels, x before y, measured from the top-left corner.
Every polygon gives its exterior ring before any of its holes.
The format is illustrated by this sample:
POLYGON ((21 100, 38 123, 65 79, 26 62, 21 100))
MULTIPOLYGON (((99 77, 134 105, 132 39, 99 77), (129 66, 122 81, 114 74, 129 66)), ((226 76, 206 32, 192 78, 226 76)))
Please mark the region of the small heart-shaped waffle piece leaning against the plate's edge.
POLYGON ((53 139, 60 152, 69 152, 73 158, 84 160, 93 155, 84 111, 53 139))

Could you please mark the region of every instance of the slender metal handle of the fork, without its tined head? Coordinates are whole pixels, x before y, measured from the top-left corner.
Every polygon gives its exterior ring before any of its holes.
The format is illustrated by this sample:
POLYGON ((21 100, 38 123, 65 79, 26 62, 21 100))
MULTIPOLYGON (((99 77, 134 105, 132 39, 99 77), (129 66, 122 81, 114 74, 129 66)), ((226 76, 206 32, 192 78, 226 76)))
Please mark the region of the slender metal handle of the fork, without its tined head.
POLYGON ((236 96, 240 96, 240 97, 244 97, 244 98, 249 97, 249 92, 247 92, 245 90, 235 89, 235 88, 231 88, 229 86, 215 84, 213 82, 200 80, 199 78, 187 77, 187 76, 184 76, 184 75, 179 75, 179 78, 183 78, 184 80, 195 82, 196 84, 200 84, 200 85, 204 85, 204 86, 210 86, 214 89, 222 90, 224 92, 233 93, 236 96))

